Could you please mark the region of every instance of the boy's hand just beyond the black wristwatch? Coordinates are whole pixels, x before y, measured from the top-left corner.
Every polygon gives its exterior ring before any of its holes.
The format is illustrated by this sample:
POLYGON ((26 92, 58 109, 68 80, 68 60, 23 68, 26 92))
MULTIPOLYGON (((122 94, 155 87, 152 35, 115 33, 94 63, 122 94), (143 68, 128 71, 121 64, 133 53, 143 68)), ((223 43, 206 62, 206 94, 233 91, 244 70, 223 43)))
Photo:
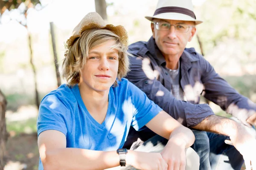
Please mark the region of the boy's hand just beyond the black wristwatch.
POLYGON ((168 165, 160 153, 129 150, 126 163, 140 170, 167 170, 168 165))

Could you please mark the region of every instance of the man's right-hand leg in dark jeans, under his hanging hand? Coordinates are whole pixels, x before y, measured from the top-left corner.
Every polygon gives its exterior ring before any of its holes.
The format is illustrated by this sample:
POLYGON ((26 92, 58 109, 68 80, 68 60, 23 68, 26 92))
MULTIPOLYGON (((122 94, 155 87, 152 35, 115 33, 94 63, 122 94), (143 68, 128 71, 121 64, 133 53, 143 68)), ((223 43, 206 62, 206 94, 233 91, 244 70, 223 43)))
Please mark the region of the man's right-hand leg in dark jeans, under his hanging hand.
POLYGON ((225 144, 228 136, 207 132, 210 145, 210 164, 212 170, 240 170, 244 163, 243 156, 232 145, 225 144))

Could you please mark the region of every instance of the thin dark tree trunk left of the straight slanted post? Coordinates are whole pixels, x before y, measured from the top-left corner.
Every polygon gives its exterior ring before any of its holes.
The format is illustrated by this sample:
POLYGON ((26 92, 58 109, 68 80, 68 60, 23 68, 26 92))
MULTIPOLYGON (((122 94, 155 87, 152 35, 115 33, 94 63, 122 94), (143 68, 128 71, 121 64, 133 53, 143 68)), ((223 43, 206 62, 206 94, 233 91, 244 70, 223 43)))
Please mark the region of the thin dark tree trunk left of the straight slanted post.
POLYGON ((28 31, 28 41, 29 41, 29 50, 30 50, 30 64, 34 73, 34 81, 35 81, 35 104, 39 108, 40 102, 39 102, 39 95, 38 95, 38 89, 37 89, 37 82, 36 82, 36 71, 35 71, 35 65, 33 63, 33 50, 32 50, 32 43, 31 43, 31 34, 28 31))

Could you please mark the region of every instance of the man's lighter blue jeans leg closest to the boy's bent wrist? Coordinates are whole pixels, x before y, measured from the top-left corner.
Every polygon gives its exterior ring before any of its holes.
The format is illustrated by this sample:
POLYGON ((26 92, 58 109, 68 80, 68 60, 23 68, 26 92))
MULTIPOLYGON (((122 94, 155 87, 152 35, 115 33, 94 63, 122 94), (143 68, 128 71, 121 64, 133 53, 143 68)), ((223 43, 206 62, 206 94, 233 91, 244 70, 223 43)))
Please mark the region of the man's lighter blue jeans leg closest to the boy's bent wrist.
POLYGON ((195 135, 195 142, 191 147, 200 157, 200 170, 211 170, 210 145, 207 133, 201 130, 192 130, 192 132, 195 135))

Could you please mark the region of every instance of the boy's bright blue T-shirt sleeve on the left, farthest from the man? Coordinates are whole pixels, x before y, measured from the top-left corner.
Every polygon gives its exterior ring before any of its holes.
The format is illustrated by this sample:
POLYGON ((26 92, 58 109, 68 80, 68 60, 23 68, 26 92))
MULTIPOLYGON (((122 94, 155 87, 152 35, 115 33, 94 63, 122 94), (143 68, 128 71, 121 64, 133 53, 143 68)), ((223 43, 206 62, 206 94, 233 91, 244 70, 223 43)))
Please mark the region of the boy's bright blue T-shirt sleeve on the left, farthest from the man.
POLYGON ((42 99, 37 119, 38 136, 45 130, 58 130, 67 136, 72 127, 70 110, 56 94, 50 94, 42 99))

